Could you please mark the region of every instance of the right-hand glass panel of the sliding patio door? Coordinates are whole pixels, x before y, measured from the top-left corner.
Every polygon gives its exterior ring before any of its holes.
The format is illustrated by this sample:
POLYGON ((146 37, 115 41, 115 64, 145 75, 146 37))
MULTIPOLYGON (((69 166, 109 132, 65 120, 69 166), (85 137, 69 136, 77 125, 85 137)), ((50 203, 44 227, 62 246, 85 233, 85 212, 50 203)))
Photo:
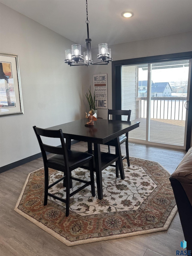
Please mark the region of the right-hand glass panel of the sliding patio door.
POLYGON ((185 148, 189 60, 150 66, 149 141, 185 148))

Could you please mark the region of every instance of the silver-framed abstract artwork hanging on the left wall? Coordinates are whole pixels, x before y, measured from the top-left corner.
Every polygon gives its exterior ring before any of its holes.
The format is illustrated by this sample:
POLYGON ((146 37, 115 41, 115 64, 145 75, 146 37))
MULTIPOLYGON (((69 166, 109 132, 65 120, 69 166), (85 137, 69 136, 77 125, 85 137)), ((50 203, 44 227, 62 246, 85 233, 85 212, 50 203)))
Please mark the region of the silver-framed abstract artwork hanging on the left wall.
POLYGON ((0 52, 0 117, 24 114, 17 54, 0 52))

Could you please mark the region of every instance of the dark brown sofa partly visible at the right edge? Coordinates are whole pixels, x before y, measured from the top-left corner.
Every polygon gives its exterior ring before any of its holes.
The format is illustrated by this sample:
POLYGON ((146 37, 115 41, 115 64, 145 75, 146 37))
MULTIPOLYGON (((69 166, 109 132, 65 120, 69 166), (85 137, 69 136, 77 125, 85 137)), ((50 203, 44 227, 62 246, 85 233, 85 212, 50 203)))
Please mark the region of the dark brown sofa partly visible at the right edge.
POLYGON ((192 147, 170 177, 187 250, 192 251, 192 147))

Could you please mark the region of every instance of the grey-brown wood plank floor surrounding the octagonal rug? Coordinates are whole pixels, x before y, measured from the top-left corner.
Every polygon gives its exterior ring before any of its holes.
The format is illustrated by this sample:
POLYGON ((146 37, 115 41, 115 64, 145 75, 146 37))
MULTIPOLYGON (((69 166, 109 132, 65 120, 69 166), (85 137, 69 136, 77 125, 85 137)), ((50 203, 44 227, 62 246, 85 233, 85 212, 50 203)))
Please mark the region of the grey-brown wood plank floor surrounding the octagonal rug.
MULTIPOLYGON (((76 143, 73 149, 86 150, 76 143)), ((125 154, 125 144, 121 145, 125 154)), ((104 151, 106 146, 101 146, 104 151)), ((172 173, 185 151, 135 144, 130 156, 158 161, 172 173)), ((184 239, 179 214, 167 231, 68 247, 14 211, 28 173, 43 167, 42 158, 0 174, 0 256, 172 256, 184 239)))

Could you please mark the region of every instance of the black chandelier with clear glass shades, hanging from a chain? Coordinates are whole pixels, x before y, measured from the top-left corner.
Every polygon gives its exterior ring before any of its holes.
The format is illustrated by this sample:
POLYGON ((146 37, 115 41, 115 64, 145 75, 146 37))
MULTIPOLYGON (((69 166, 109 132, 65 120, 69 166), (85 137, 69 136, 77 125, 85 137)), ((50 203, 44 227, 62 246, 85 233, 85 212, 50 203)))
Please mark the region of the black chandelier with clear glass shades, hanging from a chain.
POLYGON ((81 55, 81 45, 80 44, 73 44, 71 46, 71 50, 65 50, 65 63, 70 66, 80 66, 86 65, 87 67, 90 65, 108 65, 113 59, 111 58, 111 49, 107 47, 107 44, 99 44, 99 54, 98 59, 99 62, 93 63, 91 59, 91 38, 89 38, 89 20, 88 20, 88 10, 87 10, 87 0, 86 0, 86 13, 87 13, 87 39, 86 48, 87 51, 81 55))

